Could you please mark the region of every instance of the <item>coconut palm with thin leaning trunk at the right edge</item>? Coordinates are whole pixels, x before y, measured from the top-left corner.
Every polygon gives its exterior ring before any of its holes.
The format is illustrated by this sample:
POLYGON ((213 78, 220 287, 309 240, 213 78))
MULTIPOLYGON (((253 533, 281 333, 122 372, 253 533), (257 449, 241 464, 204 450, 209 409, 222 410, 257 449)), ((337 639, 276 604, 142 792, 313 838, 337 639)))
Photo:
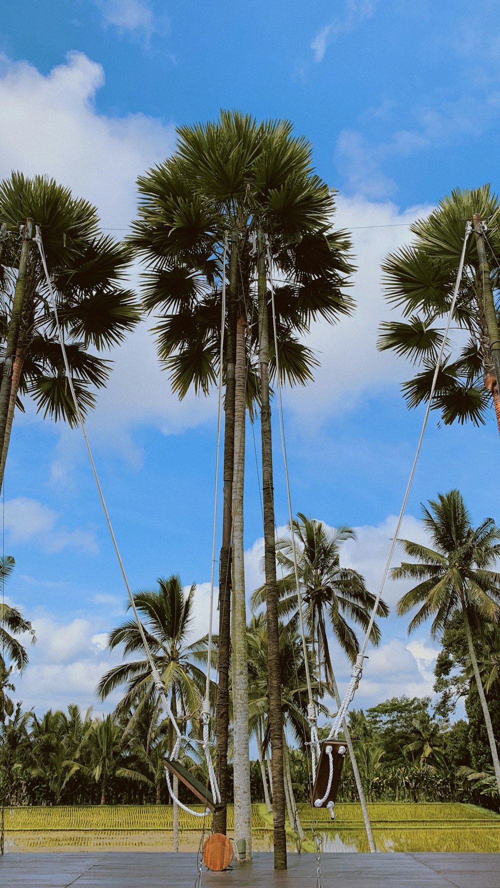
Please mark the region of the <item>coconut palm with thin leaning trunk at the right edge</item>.
POLYGON ((429 501, 429 506, 422 506, 422 514, 433 548, 400 541, 407 555, 417 561, 395 567, 393 579, 418 583, 398 602, 398 614, 408 614, 418 607, 409 622, 409 632, 433 618, 433 638, 442 636, 454 614, 462 614, 500 795, 498 751, 474 647, 474 635, 481 637, 482 624, 500 620, 500 574, 492 569, 500 555, 500 527, 488 518, 473 528, 458 490, 440 494, 436 501, 429 501))

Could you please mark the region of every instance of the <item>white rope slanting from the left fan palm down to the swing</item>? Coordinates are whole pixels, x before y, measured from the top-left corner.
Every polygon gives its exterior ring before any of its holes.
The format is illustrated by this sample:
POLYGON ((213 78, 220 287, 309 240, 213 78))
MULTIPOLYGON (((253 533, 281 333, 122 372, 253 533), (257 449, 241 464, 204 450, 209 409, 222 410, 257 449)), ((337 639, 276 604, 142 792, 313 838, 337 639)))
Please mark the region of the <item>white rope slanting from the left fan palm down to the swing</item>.
MULTIPOLYGON (((53 290, 53 288, 52 288, 51 277, 50 277, 50 274, 49 274, 49 271, 48 271, 48 268, 47 268, 47 262, 46 262, 46 259, 45 259, 44 244, 43 244, 43 242, 42 242, 42 235, 40 234, 40 229, 39 229, 38 226, 36 226, 36 236, 35 236, 35 240, 36 240, 36 244, 37 244, 37 246, 38 246, 38 250, 39 250, 39 253, 40 253, 40 258, 42 259, 42 266, 44 267, 45 279, 46 279, 46 281, 47 281, 47 286, 48 286, 48 288, 49 288, 49 293, 50 293, 50 295, 51 295, 52 311, 53 311, 53 313, 54 313, 54 321, 55 321, 55 325, 56 325, 57 335, 58 335, 58 338, 59 338, 59 341, 60 341, 60 348, 61 348, 61 352, 62 352, 62 358, 63 358, 63 361, 64 361, 64 367, 65 367, 65 370, 66 370, 67 383, 68 383, 68 385, 69 385, 69 391, 71 392, 71 397, 72 397, 73 403, 74 403, 74 405, 75 405, 75 413, 76 413, 76 417, 77 417, 77 419, 78 419, 78 424, 80 425, 80 428, 82 429, 83 440, 85 441, 85 447, 87 448, 87 453, 88 453, 88 455, 89 455, 89 459, 90 459, 90 461, 91 461, 91 469, 92 469, 92 473, 93 473, 93 476, 94 476, 94 480, 95 480, 95 482, 96 482, 96 486, 97 486, 97 488, 98 488, 100 502, 101 502, 101 504, 102 504, 102 508, 103 508, 103 511, 104 511, 104 514, 105 514, 105 517, 106 517, 107 527, 108 527, 108 529, 109 529, 109 534, 111 535, 111 539, 112 539, 112 541, 113 541, 113 546, 114 546, 114 548, 115 548, 116 558, 118 559, 118 564, 119 564, 119 566, 120 566, 120 570, 121 570, 121 572, 122 572, 123 583, 125 583, 125 588, 126 588, 126 590, 127 590, 127 594, 128 594, 128 596, 129 596, 129 599, 130 599, 130 602, 131 602, 132 612, 133 612, 134 617, 135 617, 135 620, 136 620, 136 622, 137 622, 137 626, 138 626, 138 629, 139 629, 139 635, 140 635, 140 638, 141 638, 142 644, 143 644, 143 646, 144 646, 144 650, 145 650, 145 652, 146 652, 147 662, 149 663, 149 667, 150 667, 150 669, 151 669, 151 675, 152 675, 152 677, 153 677, 153 684, 154 684, 154 686, 155 686, 156 691, 158 692, 158 694, 159 694, 159 695, 161 696, 161 698, 163 699, 163 704, 164 704, 165 710, 166 710, 167 715, 168 715, 168 717, 169 717, 169 719, 170 719, 170 721, 171 721, 171 725, 172 725, 172 727, 174 728, 174 731, 175 731, 176 734, 177 734, 177 741, 176 741, 176 745, 175 745, 174 749, 177 749, 176 755, 179 755, 180 741, 181 741, 181 737, 182 737, 182 735, 181 735, 181 733, 180 733, 179 725, 177 724, 176 718, 174 717, 173 712, 172 712, 172 710, 171 710, 171 704, 170 704, 170 702, 169 702, 168 695, 167 695, 167 693, 166 693, 166 691, 165 691, 165 686, 164 686, 164 684, 163 684, 163 680, 162 680, 162 678, 161 678, 161 676, 160 676, 160 673, 159 673, 159 671, 158 671, 158 669, 157 669, 157 667, 156 667, 155 659, 154 659, 153 654, 151 653, 150 647, 149 647, 149 645, 148 645, 148 643, 147 643, 146 633, 145 633, 145 631, 144 631, 144 627, 143 627, 142 623, 140 622, 139 613, 138 613, 138 610, 137 610, 137 607, 136 607, 136 604, 135 604, 135 601, 134 601, 134 598, 133 598, 133 595, 132 595, 132 592, 131 592, 131 587, 130 587, 130 584, 129 584, 129 581, 128 581, 128 578, 127 578, 127 575, 126 575, 126 572, 125 572, 125 567, 123 566, 123 559, 122 559, 122 556, 121 556, 121 554, 120 554, 120 550, 119 550, 119 548, 118 548, 118 543, 116 542, 115 531, 114 531, 114 529, 113 529, 113 525, 112 525, 112 523, 111 523, 111 519, 110 519, 110 517, 109 517, 109 512, 107 511, 106 500, 105 500, 105 498, 104 498, 104 494, 103 494, 103 492, 102 492, 102 488, 101 488, 101 486, 100 486, 99 475, 98 475, 98 473, 97 473, 96 465, 95 465, 95 463, 94 463, 94 459, 93 459, 92 452, 91 452, 91 445, 90 445, 90 443, 89 443, 89 439, 88 439, 88 437, 87 437, 87 432, 86 432, 86 430, 85 430, 85 424, 84 424, 84 422, 83 422, 83 414, 82 414, 82 411, 81 411, 81 409, 80 409, 80 405, 79 405, 79 403, 78 403, 78 399, 77 399, 77 397, 76 397, 75 386, 73 385, 73 378, 71 377, 71 370, 70 370, 70 368, 69 368, 69 362, 67 361, 67 352, 66 352, 66 347, 65 347, 65 345, 64 345, 64 338, 63 338, 63 335, 62 335, 62 329, 61 329, 61 327, 60 327, 60 320, 59 320, 59 313, 58 313, 58 310, 57 310, 56 299, 55 299, 55 295, 54 295, 54 290, 53 290), (178 746, 179 746, 179 749, 178 749, 178 746)), ((207 730, 208 730, 208 725, 207 725, 207 730)), ((210 759, 210 751, 208 752, 207 749, 205 749, 205 758, 210 759)), ((210 765, 211 765, 211 759, 210 759, 210 765)), ((208 766, 208 761, 207 761, 207 766, 208 766)), ((211 786, 211 789, 212 789, 212 795, 213 795, 214 797, 217 797, 217 796, 218 796, 218 786, 217 786, 217 781, 215 780, 215 773, 214 773, 214 771, 213 771, 213 765, 211 766, 211 769, 210 769, 210 767, 209 767, 209 777, 210 777, 210 786, 211 786), (214 778, 214 783, 213 783, 213 785, 212 785, 212 783, 211 783, 211 781, 212 781, 212 774, 213 774, 213 778, 214 778)), ((169 791, 170 791, 170 781, 167 781, 167 783, 168 783, 168 785, 169 785, 169 791)), ((182 804, 179 802, 179 799, 177 799, 176 797, 174 797, 174 795, 173 795, 172 792, 171 792, 171 797, 172 797, 172 799, 176 802, 177 805, 179 805, 180 807, 184 807, 184 805, 182 805, 182 804)), ((190 810, 190 809, 185 808, 185 810, 190 810)), ((193 813, 194 815, 196 815, 196 812, 194 812, 194 811, 192 811, 191 813, 193 813)))

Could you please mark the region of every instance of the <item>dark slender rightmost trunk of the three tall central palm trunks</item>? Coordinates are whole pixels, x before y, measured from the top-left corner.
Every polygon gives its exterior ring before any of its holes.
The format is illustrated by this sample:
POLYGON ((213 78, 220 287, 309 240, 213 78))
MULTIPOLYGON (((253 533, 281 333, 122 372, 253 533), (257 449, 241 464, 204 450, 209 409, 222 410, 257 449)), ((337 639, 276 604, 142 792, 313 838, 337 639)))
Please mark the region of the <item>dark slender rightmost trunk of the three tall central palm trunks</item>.
POLYGON ((260 363, 260 427, 262 437, 262 495, 264 501, 264 560, 266 573, 267 675, 269 727, 273 757, 274 868, 287 868, 285 787, 283 775, 283 722, 276 549, 274 540, 273 448, 269 404, 269 333, 267 329, 266 252, 258 232, 258 351, 260 363))

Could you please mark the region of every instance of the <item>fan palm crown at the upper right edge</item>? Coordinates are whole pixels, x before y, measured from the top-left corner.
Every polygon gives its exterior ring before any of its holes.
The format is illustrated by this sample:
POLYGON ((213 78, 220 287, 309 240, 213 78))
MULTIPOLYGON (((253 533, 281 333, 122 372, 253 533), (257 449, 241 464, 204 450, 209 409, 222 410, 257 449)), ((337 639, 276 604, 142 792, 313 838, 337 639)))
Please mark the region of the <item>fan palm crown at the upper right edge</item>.
POLYGON ((436 359, 442 343, 443 319, 448 315, 455 286, 467 219, 474 214, 490 221, 486 238, 489 267, 481 263, 477 239, 469 239, 464 277, 456 301, 453 323, 456 335, 449 338, 441 364, 433 408, 445 424, 485 422, 493 397, 500 432, 500 400, 488 329, 491 290, 498 289, 500 236, 497 226, 500 204, 482 186, 456 189, 440 201, 437 210, 412 226, 415 240, 385 258, 385 293, 402 321, 384 321, 378 348, 391 349, 419 368, 402 385, 408 406, 417 407, 431 392, 436 359))

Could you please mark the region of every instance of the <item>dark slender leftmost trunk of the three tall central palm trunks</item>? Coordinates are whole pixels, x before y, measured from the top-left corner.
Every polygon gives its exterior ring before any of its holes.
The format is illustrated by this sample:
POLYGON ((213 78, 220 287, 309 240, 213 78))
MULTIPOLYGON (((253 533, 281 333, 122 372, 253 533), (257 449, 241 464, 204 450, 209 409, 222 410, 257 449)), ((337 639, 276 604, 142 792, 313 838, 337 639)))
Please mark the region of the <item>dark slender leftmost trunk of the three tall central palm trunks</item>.
POLYGON ((215 771, 222 807, 213 815, 213 831, 227 829, 227 741, 229 734, 229 658, 231 647, 231 534, 234 474, 234 364, 236 361, 236 294, 238 282, 238 232, 233 232, 229 260, 226 335, 226 399, 224 429, 224 506, 222 546, 218 579, 218 686, 216 702, 215 771))

